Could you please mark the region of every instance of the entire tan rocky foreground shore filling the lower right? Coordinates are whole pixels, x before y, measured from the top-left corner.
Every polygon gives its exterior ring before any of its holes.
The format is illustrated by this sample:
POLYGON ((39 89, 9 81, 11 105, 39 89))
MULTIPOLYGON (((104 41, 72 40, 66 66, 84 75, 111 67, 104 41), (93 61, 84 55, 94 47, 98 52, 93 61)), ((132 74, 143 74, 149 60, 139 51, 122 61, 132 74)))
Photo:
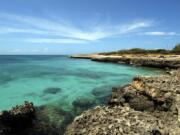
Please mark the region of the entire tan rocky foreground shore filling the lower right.
POLYGON ((180 71, 135 77, 114 88, 108 106, 76 117, 66 135, 179 135, 180 71))

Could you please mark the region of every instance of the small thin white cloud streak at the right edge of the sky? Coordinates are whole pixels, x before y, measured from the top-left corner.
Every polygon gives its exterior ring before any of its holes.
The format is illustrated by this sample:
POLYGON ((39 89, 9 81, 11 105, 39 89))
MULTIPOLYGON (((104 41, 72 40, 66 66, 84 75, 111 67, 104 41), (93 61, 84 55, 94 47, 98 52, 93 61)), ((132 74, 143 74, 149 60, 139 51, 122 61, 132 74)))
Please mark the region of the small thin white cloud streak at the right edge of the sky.
POLYGON ((145 32, 144 35, 150 36, 175 36, 179 35, 176 32, 162 32, 162 31, 153 31, 153 32, 145 32))

